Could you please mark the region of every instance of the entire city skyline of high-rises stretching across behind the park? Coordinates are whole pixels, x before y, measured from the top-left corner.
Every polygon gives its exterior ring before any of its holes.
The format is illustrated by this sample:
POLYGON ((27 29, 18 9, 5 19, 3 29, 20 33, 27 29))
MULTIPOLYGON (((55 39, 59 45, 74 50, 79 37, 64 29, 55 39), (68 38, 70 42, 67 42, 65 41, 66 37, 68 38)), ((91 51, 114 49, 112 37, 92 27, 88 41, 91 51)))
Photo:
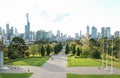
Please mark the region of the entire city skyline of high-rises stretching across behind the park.
MULTIPOLYGON (((71 36, 68 36, 67 34, 63 34, 60 32, 60 30, 57 30, 56 35, 52 33, 52 31, 44 31, 44 30, 38 30, 36 32, 30 31, 30 21, 29 21, 29 13, 26 13, 26 25, 25 25, 25 32, 24 33, 18 33, 17 28, 11 27, 9 23, 6 24, 6 31, 0 27, 0 35, 2 35, 4 38, 4 43, 9 44, 12 41, 13 37, 21 37, 23 38, 26 43, 34 42, 37 40, 49 40, 49 41, 66 41, 71 39, 81 39, 83 37, 90 39, 93 38, 95 40, 98 40, 102 37, 108 37, 111 38, 111 29, 110 27, 102 27, 101 32, 97 31, 97 28, 93 26, 91 28, 91 34, 90 34, 90 27, 86 27, 86 34, 82 35, 82 31, 80 33, 75 33, 75 38, 72 38, 71 36)), ((120 31, 116 31, 114 33, 114 37, 119 37, 120 31)))

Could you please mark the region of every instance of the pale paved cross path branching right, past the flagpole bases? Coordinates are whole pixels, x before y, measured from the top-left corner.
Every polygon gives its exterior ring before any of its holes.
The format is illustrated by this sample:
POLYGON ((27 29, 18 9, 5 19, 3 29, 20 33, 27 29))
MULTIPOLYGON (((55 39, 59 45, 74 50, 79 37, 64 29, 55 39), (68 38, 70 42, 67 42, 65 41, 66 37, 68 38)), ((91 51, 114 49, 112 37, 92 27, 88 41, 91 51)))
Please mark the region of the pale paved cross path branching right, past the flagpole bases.
MULTIPOLYGON (((105 70, 99 67, 69 67, 67 68, 67 73, 72 74, 110 74, 110 67, 109 70, 105 70)), ((113 68, 113 74, 120 74, 120 69, 113 68)))

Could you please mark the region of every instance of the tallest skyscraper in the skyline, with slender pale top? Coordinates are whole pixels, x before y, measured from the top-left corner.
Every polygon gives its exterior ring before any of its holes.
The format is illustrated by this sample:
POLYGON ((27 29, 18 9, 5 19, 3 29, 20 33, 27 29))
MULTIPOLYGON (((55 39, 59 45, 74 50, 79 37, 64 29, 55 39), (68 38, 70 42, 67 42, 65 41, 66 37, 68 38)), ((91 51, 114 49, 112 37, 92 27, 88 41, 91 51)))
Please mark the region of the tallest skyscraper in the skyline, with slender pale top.
POLYGON ((25 40, 29 41, 30 37, 30 22, 29 22, 29 14, 26 14, 27 24, 25 25, 25 40))

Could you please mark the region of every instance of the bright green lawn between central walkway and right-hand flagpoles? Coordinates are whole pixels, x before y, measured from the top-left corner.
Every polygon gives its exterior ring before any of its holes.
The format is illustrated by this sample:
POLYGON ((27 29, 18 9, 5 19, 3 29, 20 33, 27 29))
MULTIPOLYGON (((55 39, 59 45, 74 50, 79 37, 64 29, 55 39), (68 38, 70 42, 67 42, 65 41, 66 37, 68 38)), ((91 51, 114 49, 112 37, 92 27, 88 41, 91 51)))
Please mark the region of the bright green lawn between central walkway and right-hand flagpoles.
POLYGON ((100 62, 93 60, 92 58, 74 58, 68 57, 68 67, 79 67, 79 66, 101 66, 100 62))

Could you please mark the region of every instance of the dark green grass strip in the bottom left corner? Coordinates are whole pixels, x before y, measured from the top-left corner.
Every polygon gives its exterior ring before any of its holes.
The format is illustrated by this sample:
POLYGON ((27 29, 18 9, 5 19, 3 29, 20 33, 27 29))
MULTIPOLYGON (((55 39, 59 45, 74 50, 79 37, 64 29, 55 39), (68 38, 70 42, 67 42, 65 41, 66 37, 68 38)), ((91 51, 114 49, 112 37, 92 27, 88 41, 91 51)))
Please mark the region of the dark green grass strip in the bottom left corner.
POLYGON ((0 73, 0 78, 29 78, 32 73, 0 73))

